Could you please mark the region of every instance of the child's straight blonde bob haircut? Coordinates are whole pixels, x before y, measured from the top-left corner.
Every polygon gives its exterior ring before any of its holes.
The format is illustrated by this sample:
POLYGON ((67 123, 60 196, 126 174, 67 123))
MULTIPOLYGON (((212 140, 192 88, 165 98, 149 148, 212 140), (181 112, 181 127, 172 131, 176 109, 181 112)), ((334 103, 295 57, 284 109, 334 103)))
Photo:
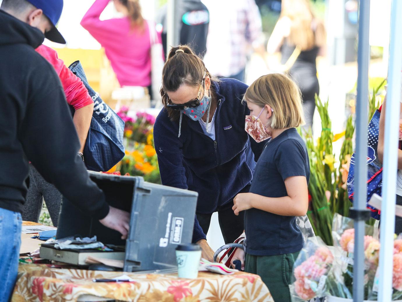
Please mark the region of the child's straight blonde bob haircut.
POLYGON ((243 100, 261 108, 271 106, 272 129, 297 128, 305 124, 300 89, 283 74, 271 73, 259 77, 247 88, 243 100))

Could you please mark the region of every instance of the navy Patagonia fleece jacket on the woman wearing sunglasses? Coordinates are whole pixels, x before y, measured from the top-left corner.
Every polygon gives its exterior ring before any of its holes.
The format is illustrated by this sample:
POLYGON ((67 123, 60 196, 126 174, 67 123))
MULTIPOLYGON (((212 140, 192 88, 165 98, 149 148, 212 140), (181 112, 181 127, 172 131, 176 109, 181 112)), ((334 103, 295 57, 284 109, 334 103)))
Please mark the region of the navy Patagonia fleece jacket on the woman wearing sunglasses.
MULTIPOLYGON (((197 213, 213 213, 252 180, 265 142, 257 144, 244 130, 250 114, 242 102, 247 87, 235 79, 212 83, 217 98, 215 141, 185 115, 180 137, 179 122, 171 121, 165 109, 156 118, 154 141, 162 184, 198 192, 197 213)), ((196 217, 193 242, 205 238, 196 217)))

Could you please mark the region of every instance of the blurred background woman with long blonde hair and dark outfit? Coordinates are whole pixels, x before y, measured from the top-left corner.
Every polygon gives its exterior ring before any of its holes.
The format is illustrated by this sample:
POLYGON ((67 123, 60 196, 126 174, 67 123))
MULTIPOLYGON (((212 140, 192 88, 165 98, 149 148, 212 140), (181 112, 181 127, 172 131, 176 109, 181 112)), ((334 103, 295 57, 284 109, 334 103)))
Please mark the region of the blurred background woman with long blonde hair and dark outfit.
POLYGON ((316 58, 325 54, 325 46, 324 25, 314 16, 309 1, 282 0, 281 15, 269 38, 267 52, 281 52, 281 64, 298 54, 291 66, 283 66, 290 68, 286 71, 301 90, 306 129, 312 127, 315 95, 320 92, 316 58))

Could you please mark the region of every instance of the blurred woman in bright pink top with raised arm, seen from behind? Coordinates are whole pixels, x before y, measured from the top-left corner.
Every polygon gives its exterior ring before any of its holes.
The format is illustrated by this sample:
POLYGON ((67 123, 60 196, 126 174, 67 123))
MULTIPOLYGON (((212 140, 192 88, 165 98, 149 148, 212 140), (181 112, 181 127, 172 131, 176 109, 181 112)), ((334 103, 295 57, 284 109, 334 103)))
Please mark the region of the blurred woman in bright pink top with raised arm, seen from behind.
POLYGON ((139 0, 113 0, 116 10, 124 17, 101 21, 100 14, 110 1, 96 0, 80 24, 105 48, 122 87, 148 87, 151 92, 150 31, 155 31, 158 43, 160 35, 156 33, 154 23, 148 23, 142 17, 139 0))

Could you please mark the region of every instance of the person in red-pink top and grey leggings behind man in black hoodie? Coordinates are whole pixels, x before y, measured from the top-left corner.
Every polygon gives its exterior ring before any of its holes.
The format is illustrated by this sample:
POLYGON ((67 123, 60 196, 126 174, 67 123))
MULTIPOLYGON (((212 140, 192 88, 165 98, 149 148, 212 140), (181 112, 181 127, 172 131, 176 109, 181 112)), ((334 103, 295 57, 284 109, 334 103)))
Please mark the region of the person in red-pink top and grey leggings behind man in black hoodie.
MULTIPOLYGON (((78 155, 82 155, 94 111, 94 101, 81 79, 64 65, 63 60, 57 57, 55 50, 42 44, 36 51, 54 67, 63 86, 67 103, 74 107, 73 122, 81 145, 80 150, 77 151, 78 155)), ((54 164, 57 165, 57 163, 54 164)), ((33 165, 29 165, 29 189, 22 211, 23 220, 38 222, 43 199, 53 225, 57 226, 62 194, 53 184, 45 181, 33 165)))

